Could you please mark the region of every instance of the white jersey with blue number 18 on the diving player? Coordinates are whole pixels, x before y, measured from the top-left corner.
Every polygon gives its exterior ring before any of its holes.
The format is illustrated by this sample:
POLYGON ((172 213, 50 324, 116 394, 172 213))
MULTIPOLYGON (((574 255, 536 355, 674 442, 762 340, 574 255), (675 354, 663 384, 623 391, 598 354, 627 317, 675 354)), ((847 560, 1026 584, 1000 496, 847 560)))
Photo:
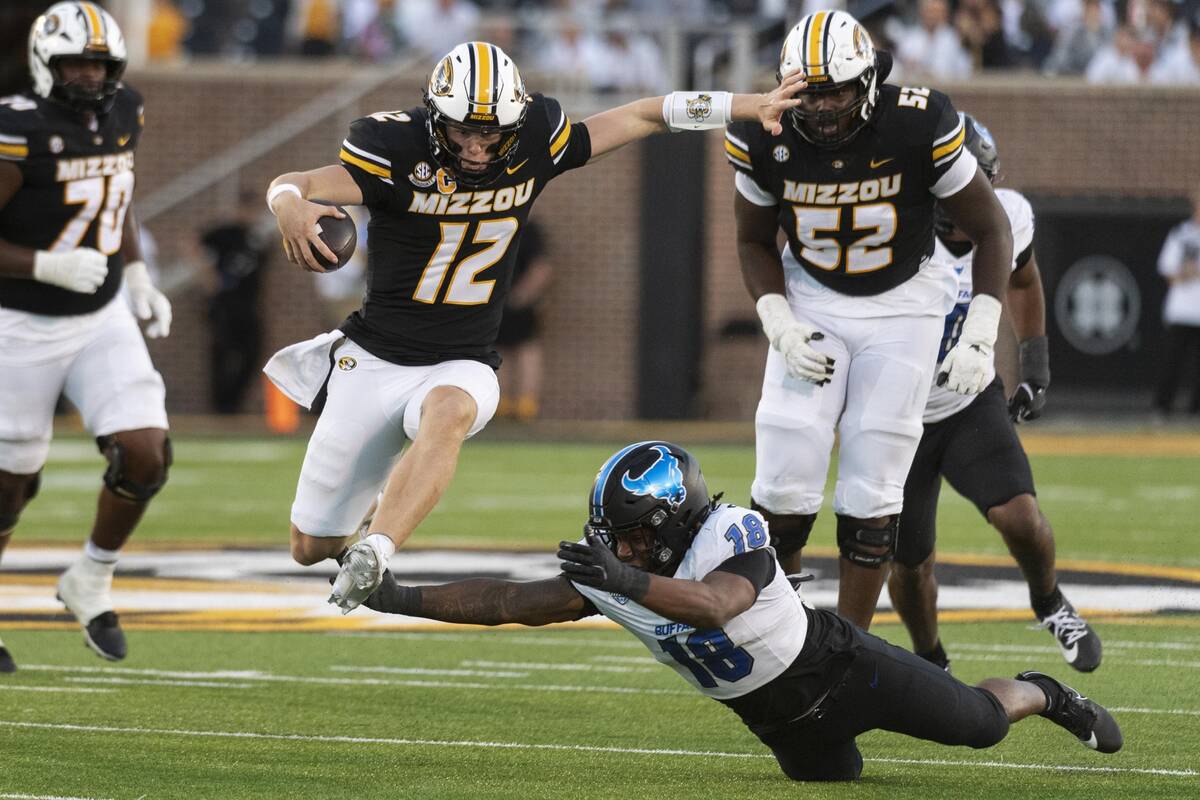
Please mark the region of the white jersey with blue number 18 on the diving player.
MULTIPOLYGON (((736 505, 716 509, 701 527, 674 577, 701 581, 724 561, 769 548, 767 525, 756 511, 736 505)), ((809 620, 800 597, 779 564, 755 603, 724 628, 697 631, 637 604, 624 595, 572 585, 596 609, 642 640, 654 657, 716 699, 742 697, 776 678, 796 661, 809 620)))

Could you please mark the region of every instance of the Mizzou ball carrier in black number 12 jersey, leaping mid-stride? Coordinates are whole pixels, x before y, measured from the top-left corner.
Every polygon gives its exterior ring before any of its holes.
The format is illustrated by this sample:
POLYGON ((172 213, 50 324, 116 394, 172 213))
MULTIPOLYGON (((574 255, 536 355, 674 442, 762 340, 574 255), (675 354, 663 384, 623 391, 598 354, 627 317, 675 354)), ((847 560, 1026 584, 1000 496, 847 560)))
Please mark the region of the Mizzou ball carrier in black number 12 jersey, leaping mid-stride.
POLYGON ((466 42, 438 62, 422 106, 360 119, 338 164, 275 179, 268 204, 288 258, 308 270, 322 271, 318 254, 331 259, 316 224, 337 213, 313 200, 371 210, 362 308, 266 367, 306 407, 326 395, 292 507, 292 554, 306 565, 338 557, 330 602, 348 612, 379 584, 449 485, 462 441, 494 414, 493 344, 546 184, 652 133, 733 119, 778 131, 803 85, 796 76, 768 95, 672 92, 572 122, 558 101, 526 94, 500 48, 466 42), (368 535, 340 557, 372 507, 368 535))

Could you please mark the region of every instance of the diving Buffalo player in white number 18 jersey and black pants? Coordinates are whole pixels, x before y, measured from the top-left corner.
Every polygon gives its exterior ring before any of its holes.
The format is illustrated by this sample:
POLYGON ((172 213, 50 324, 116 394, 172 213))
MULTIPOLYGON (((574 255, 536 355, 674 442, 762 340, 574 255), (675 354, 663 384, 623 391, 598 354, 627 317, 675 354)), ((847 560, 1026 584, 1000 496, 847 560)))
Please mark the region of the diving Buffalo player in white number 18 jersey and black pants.
POLYGON ((967 686, 928 661, 802 602, 757 511, 709 498, 700 464, 667 441, 610 457, 563 573, 404 587, 389 572, 364 604, 476 625, 604 614, 696 690, 734 711, 796 781, 857 778, 854 739, 883 729, 990 747, 1039 714, 1088 747, 1121 748, 1100 705, 1042 673, 967 686))

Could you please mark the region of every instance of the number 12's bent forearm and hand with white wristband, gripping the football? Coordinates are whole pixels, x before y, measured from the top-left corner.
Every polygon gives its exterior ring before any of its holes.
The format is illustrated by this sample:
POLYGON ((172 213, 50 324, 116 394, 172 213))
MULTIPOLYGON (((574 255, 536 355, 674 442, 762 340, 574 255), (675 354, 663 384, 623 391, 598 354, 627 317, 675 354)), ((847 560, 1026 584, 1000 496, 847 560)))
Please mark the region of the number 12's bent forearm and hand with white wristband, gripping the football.
POLYGON ((332 205, 361 205, 362 190, 341 164, 330 164, 305 173, 284 173, 266 190, 266 205, 275 215, 283 236, 283 252, 288 260, 311 272, 324 272, 312 251, 326 260, 337 261, 332 251, 320 241, 317 221, 322 217, 344 216, 332 205))

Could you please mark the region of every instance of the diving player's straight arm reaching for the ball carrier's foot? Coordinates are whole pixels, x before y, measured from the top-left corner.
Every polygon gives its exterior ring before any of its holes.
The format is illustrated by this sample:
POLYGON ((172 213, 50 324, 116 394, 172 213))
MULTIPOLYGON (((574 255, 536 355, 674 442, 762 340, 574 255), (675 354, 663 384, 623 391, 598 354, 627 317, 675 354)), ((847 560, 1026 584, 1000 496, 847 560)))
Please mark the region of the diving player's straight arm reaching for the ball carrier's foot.
POLYGON ((587 606, 583 595, 560 577, 526 583, 470 578, 440 587, 406 587, 390 572, 362 604, 388 614, 464 625, 568 622, 586 615, 587 606))

